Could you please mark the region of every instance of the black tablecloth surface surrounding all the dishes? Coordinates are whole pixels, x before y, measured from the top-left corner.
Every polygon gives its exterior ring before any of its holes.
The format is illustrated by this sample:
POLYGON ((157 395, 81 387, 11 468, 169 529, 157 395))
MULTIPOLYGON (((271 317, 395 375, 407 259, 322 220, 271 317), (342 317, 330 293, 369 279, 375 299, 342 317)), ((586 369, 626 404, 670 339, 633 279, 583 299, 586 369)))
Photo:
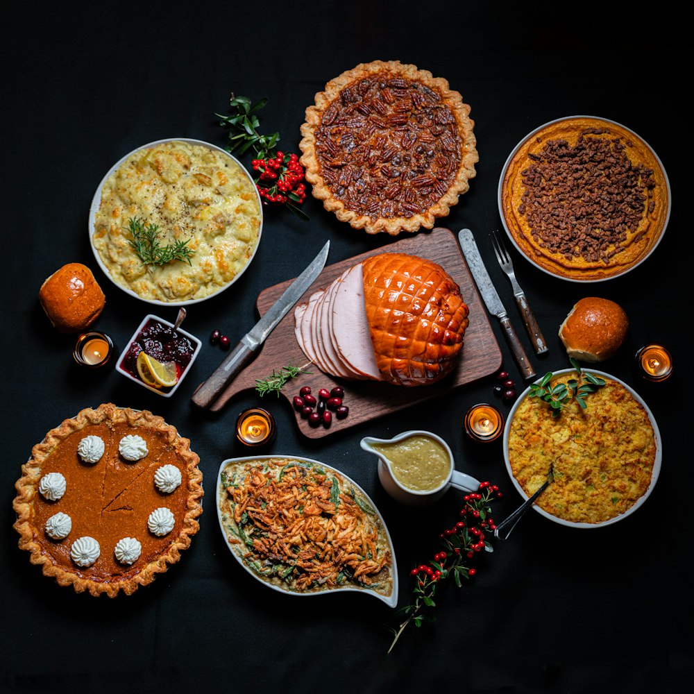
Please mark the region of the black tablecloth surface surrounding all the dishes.
MULTIPOLYGON (((667 6, 668 3, 664 3, 667 6)), ((686 446, 688 380, 688 193, 682 161, 686 116, 668 76, 682 60, 682 20, 605 6, 559 10, 533 3, 93 3, 15 8, 3 39, 3 421, 0 690, 33 691, 422 691, 675 692, 692 672, 686 446), (538 373, 568 366, 559 323, 582 296, 620 303, 631 321, 618 355, 600 364, 643 396, 659 423, 663 468, 647 505, 602 530, 573 530, 531 513, 511 538, 477 561, 477 576, 437 593, 436 623, 408 627, 386 654, 395 611, 366 595, 296 598, 272 591, 230 556, 219 532, 214 484, 221 461, 245 455, 235 416, 262 404, 276 417, 269 452, 323 460, 372 496, 393 536, 400 607, 409 570, 437 551, 457 518, 461 493, 415 511, 391 500, 365 435, 409 428, 441 434, 458 469, 506 491, 497 518, 520 498, 502 443, 466 439, 466 409, 493 398, 493 376, 445 399, 310 441, 284 399, 246 391, 217 416, 194 412, 190 395, 221 360, 214 328, 237 340, 257 318, 264 287, 296 274, 330 239, 330 260, 387 246, 391 237, 352 230, 308 198, 310 221, 266 212, 252 266, 232 289, 190 307, 185 328, 205 342, 174 398, 159 398, 113 369, 71 362, 74 339, 51 328, 37 301, 41 282, 67 262, 94 269, 106 307, 96 328, 123 348, 151 307, 99 271, 87 212, 108 168, 137 146, 193 137, 226 146, 215 113, 230 93, 269 99, 261 130, 298 151, 299 126, 315 92, 370 60, 412 62, 448 79, 472 107, 480 162, 470 191, 442 226, 468 226, 511 319, 532 355, 511 287, 487 234, 500 228, 502 164, 530 130, 566 115, 597 115, 632 128, 659 153, 674 205, 656 253, 622 278, 581 285, 551 278, 514 255, 550 350, 538 373), (633 369, 648 341, 668 346, 675 375, 643 382, 633 369), (205 475, 201 529, 181 561, 153 584, 114 600, 76 595, 43 577, 17 548, 13 484, 44 432, 103 402, 151 409, 192 440, 205 475)), ((246 164, 250 157, 246 158, 246 164)), ((422 233, 426 233, 425 231, 422 233)), ((176 310, 161 310, 174 319, 176 310)), ((521 374, 493 321, 505 367, 521 374)), ((282 366, 282 364, 277 365, 282 366)), ((509 405, 501 404, 507 412, 509 405)))

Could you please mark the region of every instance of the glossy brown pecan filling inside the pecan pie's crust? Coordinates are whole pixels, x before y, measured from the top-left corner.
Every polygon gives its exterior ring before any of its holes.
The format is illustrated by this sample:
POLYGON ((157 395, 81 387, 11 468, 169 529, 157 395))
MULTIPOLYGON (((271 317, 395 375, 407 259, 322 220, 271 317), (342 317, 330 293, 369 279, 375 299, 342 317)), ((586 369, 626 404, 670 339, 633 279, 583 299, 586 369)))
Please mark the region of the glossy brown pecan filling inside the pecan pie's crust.
POLYGON ((316 129, 325 184, 371 219, 432 207, 454 183, 462 148, 441 92, 387 71, 346 85, 316 129))

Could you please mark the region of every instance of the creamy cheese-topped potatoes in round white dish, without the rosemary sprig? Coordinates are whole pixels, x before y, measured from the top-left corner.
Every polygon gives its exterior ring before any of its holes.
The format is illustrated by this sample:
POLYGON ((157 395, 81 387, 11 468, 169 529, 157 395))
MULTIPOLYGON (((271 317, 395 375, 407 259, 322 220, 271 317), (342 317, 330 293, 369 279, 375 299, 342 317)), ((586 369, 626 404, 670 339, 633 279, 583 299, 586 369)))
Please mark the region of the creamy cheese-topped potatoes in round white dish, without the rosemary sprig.
POLYGON ((92 243, 117 285, 146 300, 199 300, 228 286, 255 254, 262 212, 255 184, 227 153, 167 141, 131 154, 105 180, 92 243), (131 220, 160 246, 185 243, 189 262, 144 264, 131 220))

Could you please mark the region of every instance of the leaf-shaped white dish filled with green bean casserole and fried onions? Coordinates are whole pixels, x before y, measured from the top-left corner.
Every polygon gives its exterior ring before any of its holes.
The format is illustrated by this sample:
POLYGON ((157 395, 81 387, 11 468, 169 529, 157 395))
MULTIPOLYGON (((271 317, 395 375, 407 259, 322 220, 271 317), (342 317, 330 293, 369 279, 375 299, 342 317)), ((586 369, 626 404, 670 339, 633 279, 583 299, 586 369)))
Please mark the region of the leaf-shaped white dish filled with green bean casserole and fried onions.
POLYGON ((398 603, 386 524, 366 492, 329 465, 287 455, 227 459, 217 516, 239 564, 276 591, 359 591, 398 603))

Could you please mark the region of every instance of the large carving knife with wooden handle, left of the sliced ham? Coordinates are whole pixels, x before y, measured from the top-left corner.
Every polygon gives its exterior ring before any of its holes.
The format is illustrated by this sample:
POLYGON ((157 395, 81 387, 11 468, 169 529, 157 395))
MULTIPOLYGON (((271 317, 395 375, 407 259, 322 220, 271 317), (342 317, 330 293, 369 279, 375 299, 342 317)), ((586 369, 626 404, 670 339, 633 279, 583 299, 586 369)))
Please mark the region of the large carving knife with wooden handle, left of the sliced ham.
POLYGON ((321 274, 328 260, 330 241, 321 249, 309 266, 299 275, 291 285, 282 292, 282 296, 255 323, 253 328, 242 337, 239 344, 214 370, 210 378, 201 383, 193 393, 192 402, 198 407, 208 408, 216 400, 223 389, 249 364, 255 357, 267 336, 273 328, 287 315, 289 309, 303 296, 304 292, 312 285, 321 274))

